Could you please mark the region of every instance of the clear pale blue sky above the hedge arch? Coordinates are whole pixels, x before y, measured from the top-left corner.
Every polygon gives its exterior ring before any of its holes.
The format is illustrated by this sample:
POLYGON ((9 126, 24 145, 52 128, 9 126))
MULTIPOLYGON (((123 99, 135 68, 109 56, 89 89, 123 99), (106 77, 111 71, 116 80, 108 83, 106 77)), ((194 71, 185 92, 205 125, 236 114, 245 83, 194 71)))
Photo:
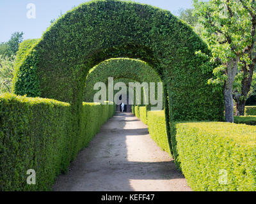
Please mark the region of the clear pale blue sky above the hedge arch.
MULTIPOLYGON (((24 33, 24 39, 40 38, 60 13, 90 0, 0 0, 0 42, 8 41, 12 33, 24 33), (27 4, 36 6, 36 18, 28 19, 27 4)), ((192 0, 135 0, 171 11, 174 15, 180 8, 191 8, 192 0)))

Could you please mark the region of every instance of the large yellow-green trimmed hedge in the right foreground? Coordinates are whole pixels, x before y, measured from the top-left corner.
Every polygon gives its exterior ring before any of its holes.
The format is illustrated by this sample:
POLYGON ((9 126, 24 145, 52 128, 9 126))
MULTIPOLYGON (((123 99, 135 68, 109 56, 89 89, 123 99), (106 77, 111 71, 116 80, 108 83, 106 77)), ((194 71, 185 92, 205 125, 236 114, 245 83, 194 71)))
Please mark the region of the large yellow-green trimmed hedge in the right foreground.
POLYGON ((182 172, 194 191, 256 191, 255 126, 191 122, 175 128, 182 172))

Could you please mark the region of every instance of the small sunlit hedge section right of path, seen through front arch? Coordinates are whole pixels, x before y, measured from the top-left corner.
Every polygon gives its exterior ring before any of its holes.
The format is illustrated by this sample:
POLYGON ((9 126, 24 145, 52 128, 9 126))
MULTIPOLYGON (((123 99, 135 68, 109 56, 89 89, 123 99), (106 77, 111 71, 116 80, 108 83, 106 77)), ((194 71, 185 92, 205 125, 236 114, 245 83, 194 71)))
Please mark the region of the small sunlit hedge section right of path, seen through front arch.
POLYGON ((149 134, 161 149, 171 154, 168 136, 166 133, 166 121, 163 111, 150 111, 147 113, 149 134))

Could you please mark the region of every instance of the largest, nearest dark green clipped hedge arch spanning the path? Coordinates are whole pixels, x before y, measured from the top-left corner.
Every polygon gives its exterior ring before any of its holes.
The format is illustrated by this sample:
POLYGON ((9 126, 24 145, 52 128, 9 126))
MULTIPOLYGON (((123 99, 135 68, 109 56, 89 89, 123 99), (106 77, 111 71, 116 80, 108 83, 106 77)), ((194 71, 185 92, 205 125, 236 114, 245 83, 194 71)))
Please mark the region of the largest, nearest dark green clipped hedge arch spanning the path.
MULTIPOLYGON (((15 94, 69 102, 80 112, 88 71, 109 58, 147 62, 161 77, 166 119, 220 120, 221 93, 212 93, 202 71, 207 45, 170 11, 127 1, 81 4, 59 18, 22 58, 15 72, 15 94)), ((79 124, 79 116, 78 116, 79 124)), ((169 122, 167 122, 169 124, 169 122)))

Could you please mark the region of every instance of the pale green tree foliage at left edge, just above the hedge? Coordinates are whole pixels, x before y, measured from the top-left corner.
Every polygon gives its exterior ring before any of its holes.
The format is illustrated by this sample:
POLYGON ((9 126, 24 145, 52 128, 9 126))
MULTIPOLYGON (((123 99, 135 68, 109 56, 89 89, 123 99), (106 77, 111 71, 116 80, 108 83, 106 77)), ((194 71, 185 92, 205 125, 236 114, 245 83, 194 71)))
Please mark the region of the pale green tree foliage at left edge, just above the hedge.
POLYGON ((15 56, 0 55, 0 94, 12 91, 15 56))

